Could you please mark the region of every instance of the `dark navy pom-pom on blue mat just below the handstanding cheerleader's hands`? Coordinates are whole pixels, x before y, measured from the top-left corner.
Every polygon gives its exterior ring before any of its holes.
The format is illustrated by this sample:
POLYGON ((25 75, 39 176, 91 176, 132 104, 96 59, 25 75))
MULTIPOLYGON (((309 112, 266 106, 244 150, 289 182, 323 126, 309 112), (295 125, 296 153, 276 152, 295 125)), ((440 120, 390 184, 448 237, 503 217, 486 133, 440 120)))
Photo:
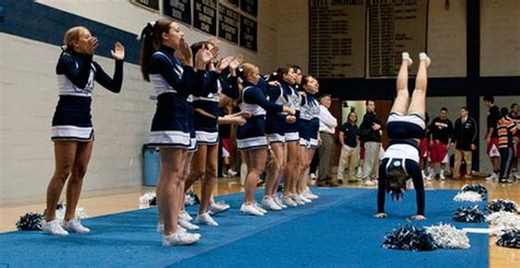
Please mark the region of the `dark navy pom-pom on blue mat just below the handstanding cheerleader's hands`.
POLYGON ((433 250, 437 245, 433 237, 425 229, 407 224, 386 234, 383 248, 423 252, 433 250))

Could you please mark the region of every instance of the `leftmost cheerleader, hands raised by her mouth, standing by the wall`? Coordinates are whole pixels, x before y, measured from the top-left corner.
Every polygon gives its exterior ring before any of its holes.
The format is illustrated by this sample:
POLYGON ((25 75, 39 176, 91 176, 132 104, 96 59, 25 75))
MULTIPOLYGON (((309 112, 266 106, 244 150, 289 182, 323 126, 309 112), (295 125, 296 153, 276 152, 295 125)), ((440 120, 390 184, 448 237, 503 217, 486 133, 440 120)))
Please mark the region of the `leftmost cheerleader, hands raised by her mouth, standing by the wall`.
POLYGON ((114 77, 110 78, 101 66, 92 60, 99 42, 88 28, 69 28, 65 33, 64 43, 66 47, 56 67, 59 101, 53 117, 52 139, 56 167, 47 187, 47 209, 42 225, 44 232, 54 235, 90 232, 76 219, 76 207, 94 140, 90 115, 92 90, 97 81, 114 93, 121 91, 125 56, 123 45, 115 43, 111 51, 112 58, 115 59, 115 71, 114 77), (67 179, 67 209, 61 225, 56 219, 56 206, 67 179))

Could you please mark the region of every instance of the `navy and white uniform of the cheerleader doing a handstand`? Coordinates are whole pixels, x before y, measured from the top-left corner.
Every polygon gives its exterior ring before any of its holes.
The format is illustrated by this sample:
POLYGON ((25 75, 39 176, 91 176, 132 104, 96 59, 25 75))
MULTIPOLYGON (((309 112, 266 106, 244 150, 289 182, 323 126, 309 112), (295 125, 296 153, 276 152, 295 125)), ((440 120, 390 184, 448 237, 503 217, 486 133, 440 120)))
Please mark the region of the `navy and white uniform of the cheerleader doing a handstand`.
POLYGON ((377 212, 384 212, 386 174, 392 167, 400 167, 411 177, 416 189, 417 214, 425 214, 425 186, 419 166, 419 142, 425 138, 425 119, 416 114, 392 113, 386 123, 391 139, 380 164, 377 212))

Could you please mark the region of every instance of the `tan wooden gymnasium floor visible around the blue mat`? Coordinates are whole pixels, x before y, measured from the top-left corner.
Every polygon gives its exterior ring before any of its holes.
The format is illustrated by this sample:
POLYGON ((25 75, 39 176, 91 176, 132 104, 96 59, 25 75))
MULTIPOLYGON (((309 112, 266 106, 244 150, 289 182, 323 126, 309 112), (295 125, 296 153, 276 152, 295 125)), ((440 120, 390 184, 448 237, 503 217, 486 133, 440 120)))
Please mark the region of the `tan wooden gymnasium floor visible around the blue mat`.
MULTIPOLYGON (((500 185, 497 183, 487 183, 484 178, 470 179, 448 179, 444 182, 434 180, 431 188, 438 189, 460 189, 466 183, 478 183, 486 186, 489 191, 489 200, 496 198, 511 199, 520 203, 519 183, 500 185)), ((363 187, 361 184, 344 184, 341 187, 363 187)), ((194 186, 195 193, 199 191, 199 185, 194 186)), ((139 208, 138 198, 144 193, 154 191, 154 187, 134 187, 117 190, 106 190, 97 193, 87 193, 80 199, 80 206, 84 208, 88 217, 103 215, 115 212, 136 210, 139 208)), ((239 178, 219 178, 215 188, 217 196, 231 193, 244 191, 239 178)), ((375 199, 374 199, 375 202, 375 199)), ((428 206, 428 205, 427 205, 428 206)), ((0 208, 0 232, 14 231, 14 223, 21 214, 25 212, 42 212, 45 208, 44 202, 14 205, 0 208)), ((520 267, 520 252, 496 246, 496 238, 489 240, 489 263, 490 267, 520 267)))

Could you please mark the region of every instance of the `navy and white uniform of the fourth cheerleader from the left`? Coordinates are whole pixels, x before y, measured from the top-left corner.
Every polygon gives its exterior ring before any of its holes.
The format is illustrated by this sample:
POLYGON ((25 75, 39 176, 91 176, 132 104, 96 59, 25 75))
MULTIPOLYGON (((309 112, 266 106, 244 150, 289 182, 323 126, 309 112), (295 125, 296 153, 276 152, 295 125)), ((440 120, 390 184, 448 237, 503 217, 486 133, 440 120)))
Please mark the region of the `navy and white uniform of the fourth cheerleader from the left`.
POLYGON ((238 150, 268 147, 268 139, 265 138, 265 110, 280 113, 283 110, 283 106, 270 103, 267 97, 267 85, 262 79, 260 79, 257 86, 249 82, 244 83, 240 109, 251 114, 251 117, 247 119, 244 126, 238 127, 238 150))

